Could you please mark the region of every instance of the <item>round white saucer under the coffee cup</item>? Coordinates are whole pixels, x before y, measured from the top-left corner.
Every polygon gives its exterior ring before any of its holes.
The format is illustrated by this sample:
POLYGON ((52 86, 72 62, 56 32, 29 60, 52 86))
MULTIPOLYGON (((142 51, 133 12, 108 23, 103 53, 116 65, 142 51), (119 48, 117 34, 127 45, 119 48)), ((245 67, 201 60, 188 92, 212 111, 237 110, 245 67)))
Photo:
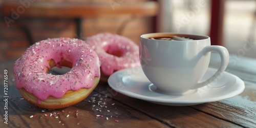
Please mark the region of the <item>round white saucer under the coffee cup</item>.
MULTIPOLYGON (((217 70, 208 68, 202 80, 209 78, 217 70)), ((108 79, 110 87, 118 93, 162 105, 186 106, 213 102, 242 93, 244 82, 237 76, 224 72, 221 77, 207 86, 191 90, 184 95, 167 95, 156 90, 144 75, 141 67, 119 70, 108 79)))

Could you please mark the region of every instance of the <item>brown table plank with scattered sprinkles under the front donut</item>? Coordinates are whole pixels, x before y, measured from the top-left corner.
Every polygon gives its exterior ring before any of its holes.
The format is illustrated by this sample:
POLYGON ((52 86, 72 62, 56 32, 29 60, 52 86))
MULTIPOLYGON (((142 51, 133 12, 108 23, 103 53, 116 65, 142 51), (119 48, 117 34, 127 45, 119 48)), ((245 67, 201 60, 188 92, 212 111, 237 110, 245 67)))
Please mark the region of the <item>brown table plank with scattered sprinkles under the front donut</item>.
MULTIPOLYGON (((59 110, 46 110, 27 102, 15 88, 12 73, 13 61, 0 64, 0 71, 8 74, 8 124, 0 118, 0 127, 167 127, 129 106, 93 91, 87 99, 59 110), (50 116, 52 114, 52 116, 50 116), (69 117, 67 117, 69 115, 69 117), (76 116, 77 115, 77 116, 76 116), (107 120, 108 117, 108 120, 107 120)), ((2 73, 3 74, 3 73, 2 73)), ((1 88, 3 88, 3 75, 1 88)), ((102 86, 99 85, 98 87, 102 86)), ((105 86, 105 85, 103 85, 105 86)), ((98 88, 96 87, 96 88, 98 88)), ((0 114, 5 114, 3 91, 0 92, 0 114)))

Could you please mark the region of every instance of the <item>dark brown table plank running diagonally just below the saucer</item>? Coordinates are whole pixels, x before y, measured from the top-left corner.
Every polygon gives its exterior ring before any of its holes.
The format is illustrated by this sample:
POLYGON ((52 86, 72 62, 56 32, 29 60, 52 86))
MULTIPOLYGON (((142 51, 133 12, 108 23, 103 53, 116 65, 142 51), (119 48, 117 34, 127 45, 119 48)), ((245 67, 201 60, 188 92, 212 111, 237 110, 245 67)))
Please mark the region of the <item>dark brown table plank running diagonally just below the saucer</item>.
MULTIPOLYGON (((100 86, 96 91, 111 96, 112 89, 109 86, 100 86), (108 90, 108 91, 106 91, 108 90)), ((113 91, 114 92, 114 91, 113 91)), ((159 105, 143 100, 127 97, 120 93, 113 93, 114 100, 117 100, 137 111, 159 120, 171 127, 236 127, 225 120, 218 119, 214 116, 205 114, 188 106, 166 106, 159 105), (216 123, 218 122, 218 123, 216 123)))

